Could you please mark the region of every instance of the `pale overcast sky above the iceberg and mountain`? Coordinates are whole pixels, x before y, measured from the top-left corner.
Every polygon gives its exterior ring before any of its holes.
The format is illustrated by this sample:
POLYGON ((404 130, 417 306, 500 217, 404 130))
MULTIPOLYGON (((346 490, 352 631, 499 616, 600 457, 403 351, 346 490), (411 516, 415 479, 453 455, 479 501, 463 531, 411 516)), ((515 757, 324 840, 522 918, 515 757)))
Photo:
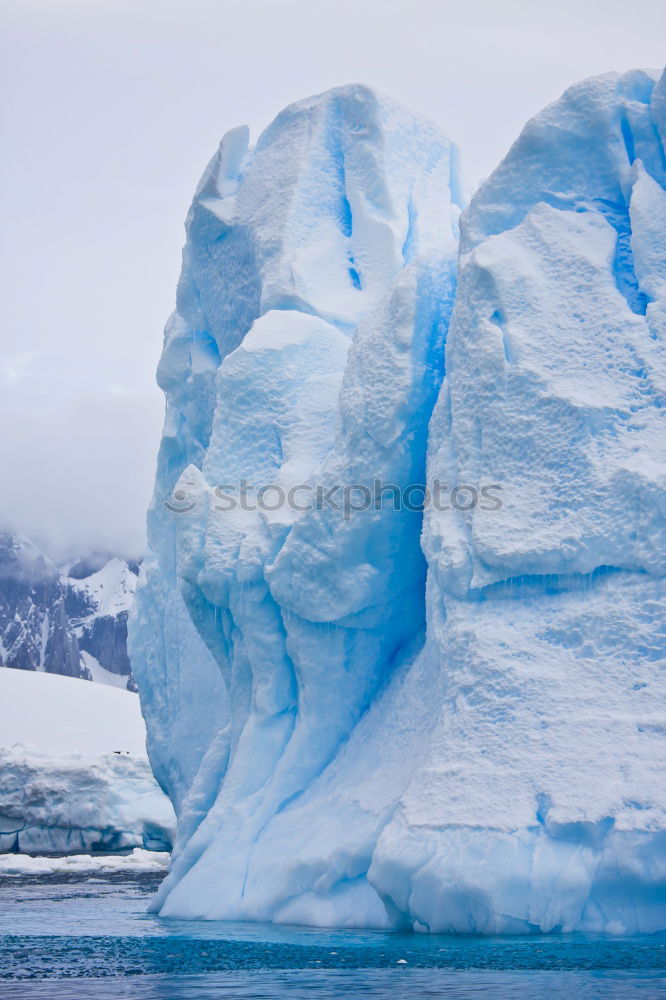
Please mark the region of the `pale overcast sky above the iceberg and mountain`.
POLYGON ((664 0, 1 0, 0 520, 138 552, 183 220, 221 135, 363 82, 472 184, 571 83, 658 67, 664 0))

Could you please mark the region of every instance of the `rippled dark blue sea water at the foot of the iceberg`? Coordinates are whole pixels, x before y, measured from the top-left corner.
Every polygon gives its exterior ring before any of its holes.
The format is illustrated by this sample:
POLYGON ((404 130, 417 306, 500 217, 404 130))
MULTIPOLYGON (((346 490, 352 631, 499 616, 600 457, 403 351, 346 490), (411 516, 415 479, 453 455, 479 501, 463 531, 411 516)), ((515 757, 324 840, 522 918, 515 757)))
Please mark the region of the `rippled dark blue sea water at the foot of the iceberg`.
POLYGON ((666 936, 444 937, 163 920, 155 876, 0 878, 0 997, 666 998, 666 936))

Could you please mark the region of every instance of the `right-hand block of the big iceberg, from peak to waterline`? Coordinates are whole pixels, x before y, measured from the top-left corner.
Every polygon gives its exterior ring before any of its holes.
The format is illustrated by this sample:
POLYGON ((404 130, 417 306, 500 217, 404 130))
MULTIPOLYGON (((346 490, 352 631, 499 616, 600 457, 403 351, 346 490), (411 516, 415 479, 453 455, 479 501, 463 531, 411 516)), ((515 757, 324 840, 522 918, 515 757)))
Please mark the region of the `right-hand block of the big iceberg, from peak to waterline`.
POLYGON ((463 222, 428 474, 503 506, 426 514, 444 694, 370 870, 429 926, 666 925, 664 85, 573 87, 463 222))

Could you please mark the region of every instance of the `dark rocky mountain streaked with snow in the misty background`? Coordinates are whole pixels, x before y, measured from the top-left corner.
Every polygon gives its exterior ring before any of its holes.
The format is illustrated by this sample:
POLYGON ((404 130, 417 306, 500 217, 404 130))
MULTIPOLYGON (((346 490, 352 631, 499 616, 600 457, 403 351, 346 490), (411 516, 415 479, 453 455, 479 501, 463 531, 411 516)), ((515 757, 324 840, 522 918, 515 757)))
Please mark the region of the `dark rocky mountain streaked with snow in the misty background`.
POLYGON ((127 616, 137 573, 116 556, 58 567, 29 539, 0 534, 0 666, 135 690, 127 616))

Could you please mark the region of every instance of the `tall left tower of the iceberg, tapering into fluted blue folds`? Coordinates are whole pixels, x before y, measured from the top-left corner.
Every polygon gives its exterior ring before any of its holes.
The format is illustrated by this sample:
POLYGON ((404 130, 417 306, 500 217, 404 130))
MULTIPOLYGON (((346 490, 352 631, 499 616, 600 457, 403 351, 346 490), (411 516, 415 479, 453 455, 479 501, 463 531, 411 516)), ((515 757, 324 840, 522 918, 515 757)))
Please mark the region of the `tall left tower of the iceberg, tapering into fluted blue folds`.
POLYGON ((225 136, 188 217, 132 636, 175 865, 235 853, 240 914, 261 831, 422 642, 426 567, 418 512, 226 512, 215 487, 423 481, 461 201, 448 140, 364 87, 247 142, 225 136))

